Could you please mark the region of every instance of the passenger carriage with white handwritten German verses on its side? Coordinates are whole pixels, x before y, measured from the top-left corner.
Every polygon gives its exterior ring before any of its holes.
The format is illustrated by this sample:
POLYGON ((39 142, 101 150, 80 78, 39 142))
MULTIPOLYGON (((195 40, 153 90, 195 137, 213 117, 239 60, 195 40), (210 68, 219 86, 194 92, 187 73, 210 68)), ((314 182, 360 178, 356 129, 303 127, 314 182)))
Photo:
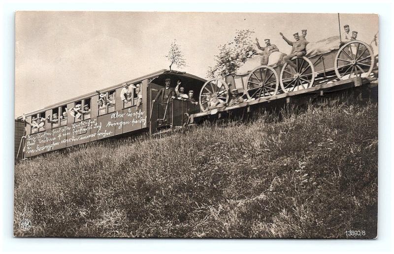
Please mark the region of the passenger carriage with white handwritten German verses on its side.
MULTIPOLYGON (((180 80, 186 92, 197 92, 206 82, 186 72, 163 69, 25 114, 16 121, 18 130, 21 120, 25 128, 23 138, 15 139, 20 140, 15 144, 19 146, 15 157, 29 158, 136 131, 154 134, 165 128, 182 127, 188 116, 200 109, 197 102, 172 96, 153 102, 168 79, 172 90, 180 80)), ((197 99, 197 93, 195 96, 197 99)))

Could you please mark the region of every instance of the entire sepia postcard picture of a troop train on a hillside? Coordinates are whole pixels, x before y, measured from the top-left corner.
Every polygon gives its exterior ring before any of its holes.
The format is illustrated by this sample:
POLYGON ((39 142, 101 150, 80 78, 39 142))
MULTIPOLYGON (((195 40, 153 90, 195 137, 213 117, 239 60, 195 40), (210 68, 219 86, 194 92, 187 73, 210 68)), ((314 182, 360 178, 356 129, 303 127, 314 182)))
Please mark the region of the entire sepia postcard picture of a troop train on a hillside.
POLYGON ((17 237, 377 237, 379 17, 15 13, 17 237))

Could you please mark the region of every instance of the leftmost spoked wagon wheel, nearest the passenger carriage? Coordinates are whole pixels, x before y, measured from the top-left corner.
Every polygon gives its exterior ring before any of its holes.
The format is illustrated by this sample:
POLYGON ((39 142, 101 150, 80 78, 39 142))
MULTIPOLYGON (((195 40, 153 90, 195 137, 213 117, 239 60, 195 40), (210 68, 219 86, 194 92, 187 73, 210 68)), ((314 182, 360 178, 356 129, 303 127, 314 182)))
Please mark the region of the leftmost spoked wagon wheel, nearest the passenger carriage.
POLYGON ((199 96, 199 105, 201 111, 208 111, 213 109, 210 105, 215 101, 217 107, 227 105, 229 102, 229 87, 222 79, 211 79, 205 82, 202 86, 199 96))

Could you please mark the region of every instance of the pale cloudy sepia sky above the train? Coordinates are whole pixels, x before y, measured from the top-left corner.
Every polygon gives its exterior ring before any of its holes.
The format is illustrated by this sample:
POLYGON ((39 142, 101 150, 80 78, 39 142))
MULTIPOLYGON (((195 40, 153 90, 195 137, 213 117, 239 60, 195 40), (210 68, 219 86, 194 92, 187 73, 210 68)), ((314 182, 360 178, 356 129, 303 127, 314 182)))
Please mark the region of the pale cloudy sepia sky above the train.
MULTIPOLYGON (((340 24, 367 43, 378 32, 377 15, 340 14, 340 24)), ((307 29, 310 42, 339 35, 336 13, 17 12, 15 116, 168 69, 174 39, 188 66, 173 69, 206 78, 218 46, 242 29, 284 53, 291 47, 279 32, 307 29)))

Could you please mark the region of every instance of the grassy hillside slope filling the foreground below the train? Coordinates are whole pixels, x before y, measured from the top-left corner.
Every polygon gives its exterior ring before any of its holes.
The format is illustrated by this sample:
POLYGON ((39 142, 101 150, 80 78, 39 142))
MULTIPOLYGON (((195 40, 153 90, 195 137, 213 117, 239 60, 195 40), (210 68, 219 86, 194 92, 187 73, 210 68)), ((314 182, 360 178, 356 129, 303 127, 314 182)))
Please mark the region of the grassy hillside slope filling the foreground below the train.
POLYGON ((23 161, 15 235, 376 237, 377 103, 280 115, 23 161))

